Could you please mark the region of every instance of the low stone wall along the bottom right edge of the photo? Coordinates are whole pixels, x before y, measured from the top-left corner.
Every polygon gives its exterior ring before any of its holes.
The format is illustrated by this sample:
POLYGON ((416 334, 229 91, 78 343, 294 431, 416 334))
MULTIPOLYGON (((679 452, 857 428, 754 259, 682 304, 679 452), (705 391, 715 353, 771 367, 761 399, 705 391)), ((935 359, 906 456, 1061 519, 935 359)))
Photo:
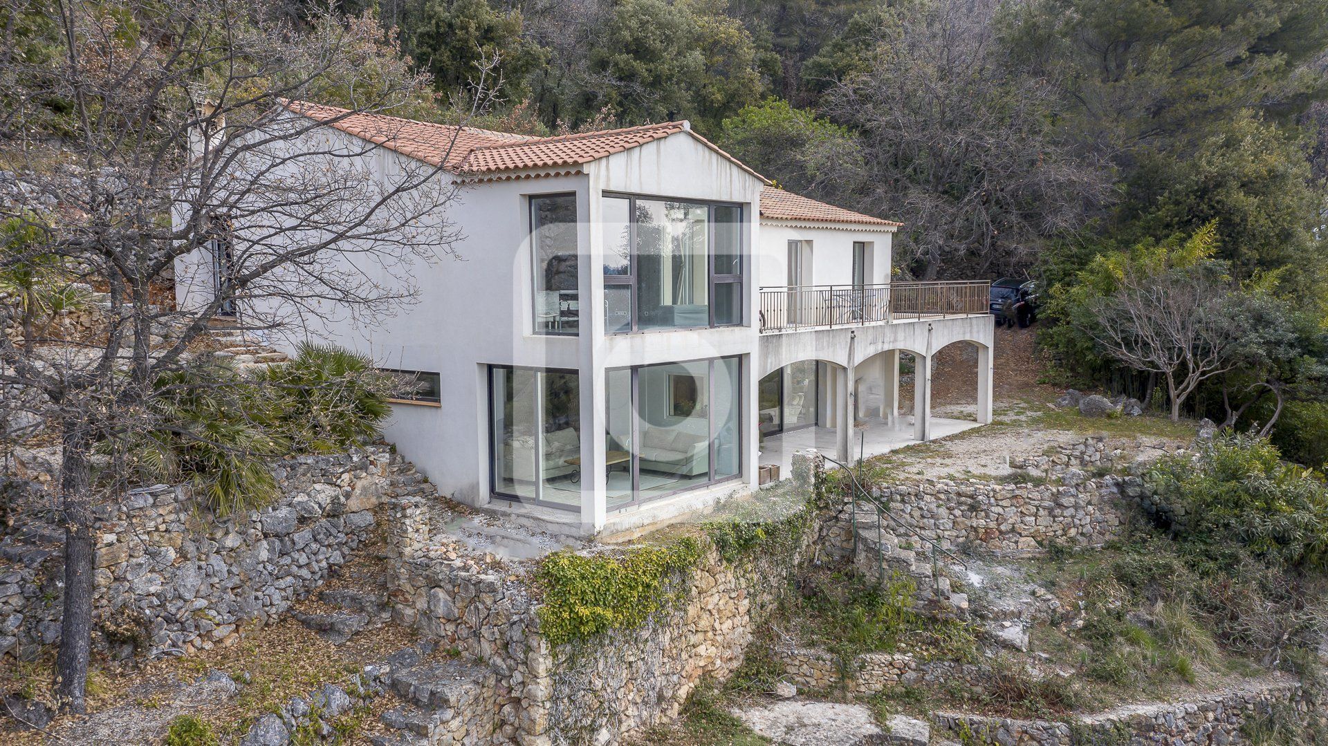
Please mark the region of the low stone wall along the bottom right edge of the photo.
MULTIPOLYGON (((1313 717, 1312 704, 1289 677, 1246 681, 1210 694, 1175 702, 1123 705, 1065 722, 935 713, 938 727, 965 743, 1000 746, 1076 746, 1082 743, 1173 746, 1242 743, 1242 726, 1267 717, 1275 706, 1291 706, 1297 719, 1313 717)), ((1319 715, 1321 717, 1321 715, 1319 715)))

